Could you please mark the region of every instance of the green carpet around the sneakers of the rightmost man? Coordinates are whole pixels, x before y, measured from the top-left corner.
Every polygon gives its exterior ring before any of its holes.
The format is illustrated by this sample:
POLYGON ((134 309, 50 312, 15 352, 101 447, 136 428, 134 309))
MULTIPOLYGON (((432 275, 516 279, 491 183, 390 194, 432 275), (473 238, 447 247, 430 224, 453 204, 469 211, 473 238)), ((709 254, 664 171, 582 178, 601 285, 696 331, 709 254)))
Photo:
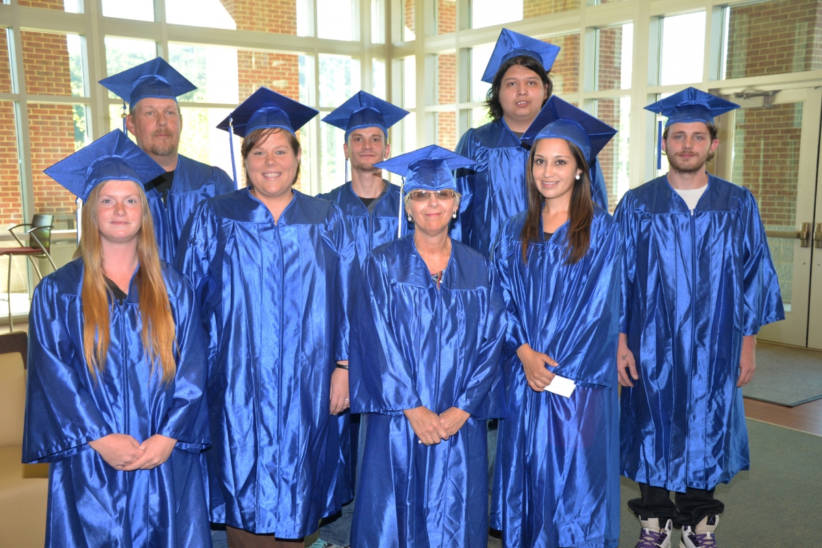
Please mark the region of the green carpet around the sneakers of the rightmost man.
MULTIPOLYGON (((720 548, 822 546, 822 437, 748 419, 750 471, 717 487, 725 503, 717 528, 720 548)), ((640 523, 628 510, 640 496, 622 478, 621 548, 634 546, 640 523)), ((679 546, 674 532, 672 547, 679 546)))

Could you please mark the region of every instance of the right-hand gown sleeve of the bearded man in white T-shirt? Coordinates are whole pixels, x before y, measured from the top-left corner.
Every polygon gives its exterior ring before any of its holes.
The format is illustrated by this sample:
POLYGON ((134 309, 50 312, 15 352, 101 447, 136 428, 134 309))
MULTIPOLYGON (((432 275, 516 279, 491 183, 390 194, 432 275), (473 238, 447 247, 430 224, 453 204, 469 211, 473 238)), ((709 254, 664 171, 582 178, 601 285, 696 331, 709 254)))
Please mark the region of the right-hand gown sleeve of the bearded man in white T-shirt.
POLYGON ((779 291, 768 239, 760 219, 754 196, 747 193, 745 211, 745 246, 743 268, 745 277, 745 335, 759 333, 763 325, 784 320, 785 311, 779 291))

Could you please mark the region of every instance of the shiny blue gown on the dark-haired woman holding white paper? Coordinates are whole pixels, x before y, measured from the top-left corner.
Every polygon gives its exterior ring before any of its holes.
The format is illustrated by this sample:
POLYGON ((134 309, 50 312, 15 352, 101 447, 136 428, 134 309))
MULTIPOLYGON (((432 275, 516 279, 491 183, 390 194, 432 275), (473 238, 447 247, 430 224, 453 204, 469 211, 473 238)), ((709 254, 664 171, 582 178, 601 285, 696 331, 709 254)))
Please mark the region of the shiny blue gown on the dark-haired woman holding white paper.
POLYGON ((548 242, 529 246, 525 265, 524 221, 525 212, 510 219, 494 251, 508 306, 508 412, 499 426, 492 527, 506 548, 617 546, 619 229, 595 207, 582 260, 565 264, 566 222, 548 242), (524 343, 575 380, 570 398, 528 386, 515 353, 524 343))

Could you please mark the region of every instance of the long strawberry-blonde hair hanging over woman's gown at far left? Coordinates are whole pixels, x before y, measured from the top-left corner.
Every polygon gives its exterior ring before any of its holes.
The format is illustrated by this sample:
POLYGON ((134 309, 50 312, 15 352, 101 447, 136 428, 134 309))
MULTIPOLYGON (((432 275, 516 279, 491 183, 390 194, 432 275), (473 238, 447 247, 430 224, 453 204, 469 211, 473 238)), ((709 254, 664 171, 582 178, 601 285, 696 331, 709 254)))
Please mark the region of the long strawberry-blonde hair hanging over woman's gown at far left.
MULTIPOLYGON (((154 236, 154 222, 151 219, 148 200, 140 184, 134 183, 140 196, 142 207, 142 227, 137 233, 137 273, 135 284, 139 297, 142 318, 141 338, 152 370, 159 359, 163 370, 162 381, 169 383, 177 371, 174 358, 176 333, 171 314, 169 294, 166 291, 159 252, 154 236)), ((92 376, 104 371, 105 356, 109 352, 111 316, 109 295, 113 293, 105 281, 103 271, 103 246, 97 225, 97 203, 105 182, 97 185, 85 201, 82 217, 82 236, 75 257, 83 260, 83 355, 85 365, 92 376)))

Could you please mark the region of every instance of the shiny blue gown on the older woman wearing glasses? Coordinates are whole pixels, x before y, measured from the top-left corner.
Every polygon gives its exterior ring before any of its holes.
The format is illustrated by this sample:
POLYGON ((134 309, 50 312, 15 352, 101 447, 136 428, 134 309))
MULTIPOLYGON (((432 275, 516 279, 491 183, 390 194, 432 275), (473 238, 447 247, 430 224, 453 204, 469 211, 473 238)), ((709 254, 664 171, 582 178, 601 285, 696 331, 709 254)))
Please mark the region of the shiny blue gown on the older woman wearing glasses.
POLYGON ((487 545, 486 419, 504 405, 505 324, 492 265, 468 246, 452 241, 439 290, 413 235, 367 259, 350 383, 352 411, 372 414, 352 546, 487 545), (403 414, 420 405, 436 413, 457 407, 471 417, 448 440, 426 446, 403 414))

